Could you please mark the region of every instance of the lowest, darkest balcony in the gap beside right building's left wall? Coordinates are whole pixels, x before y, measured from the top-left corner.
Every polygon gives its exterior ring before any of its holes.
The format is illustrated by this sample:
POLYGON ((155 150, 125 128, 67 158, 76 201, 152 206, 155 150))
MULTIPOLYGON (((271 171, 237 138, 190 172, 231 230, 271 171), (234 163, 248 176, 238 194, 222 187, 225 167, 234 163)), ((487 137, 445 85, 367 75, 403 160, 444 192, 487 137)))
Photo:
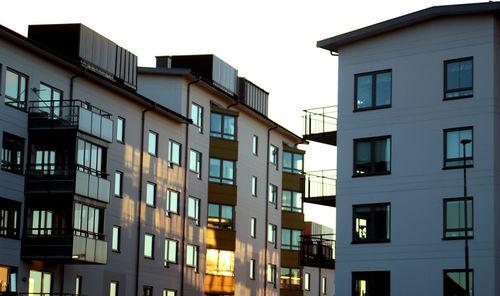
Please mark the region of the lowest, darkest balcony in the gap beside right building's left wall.
POLYGON ((335 269, 335 234, 301 236, 301 264, 335 269))

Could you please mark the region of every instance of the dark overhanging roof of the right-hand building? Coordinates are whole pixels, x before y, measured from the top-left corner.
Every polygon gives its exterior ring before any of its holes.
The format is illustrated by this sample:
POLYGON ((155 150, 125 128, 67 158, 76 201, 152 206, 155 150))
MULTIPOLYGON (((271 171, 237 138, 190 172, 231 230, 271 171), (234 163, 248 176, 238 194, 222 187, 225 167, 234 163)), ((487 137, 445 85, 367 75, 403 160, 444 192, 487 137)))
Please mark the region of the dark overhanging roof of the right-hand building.
POLYGON ((338 52, 341 46, 439 17, 498 13, 500 13, 500 2, 433 6, 358 30, 323 39, 318 41, 316 45, 332 52, 338 52))

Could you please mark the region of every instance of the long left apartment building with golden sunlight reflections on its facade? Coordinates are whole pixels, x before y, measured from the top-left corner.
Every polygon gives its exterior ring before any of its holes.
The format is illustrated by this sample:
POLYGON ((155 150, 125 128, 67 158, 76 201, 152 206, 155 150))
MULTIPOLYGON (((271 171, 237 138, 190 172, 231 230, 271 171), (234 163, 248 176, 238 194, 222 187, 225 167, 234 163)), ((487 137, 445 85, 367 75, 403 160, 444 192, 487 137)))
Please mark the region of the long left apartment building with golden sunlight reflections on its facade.
POLYGON ((0 295, 303 295, 303 143, 214 55, 0 27, 0 295))

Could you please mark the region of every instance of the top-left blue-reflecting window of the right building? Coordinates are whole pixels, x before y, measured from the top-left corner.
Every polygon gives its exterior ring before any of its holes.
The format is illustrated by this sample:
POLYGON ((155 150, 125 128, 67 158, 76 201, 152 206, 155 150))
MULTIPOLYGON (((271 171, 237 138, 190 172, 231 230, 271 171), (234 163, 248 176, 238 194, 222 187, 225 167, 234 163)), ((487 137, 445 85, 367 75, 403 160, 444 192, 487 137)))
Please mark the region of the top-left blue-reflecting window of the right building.
POLYGON ((390 107, 391 80, 391 70, 356 74, 354 110, 390 107))

